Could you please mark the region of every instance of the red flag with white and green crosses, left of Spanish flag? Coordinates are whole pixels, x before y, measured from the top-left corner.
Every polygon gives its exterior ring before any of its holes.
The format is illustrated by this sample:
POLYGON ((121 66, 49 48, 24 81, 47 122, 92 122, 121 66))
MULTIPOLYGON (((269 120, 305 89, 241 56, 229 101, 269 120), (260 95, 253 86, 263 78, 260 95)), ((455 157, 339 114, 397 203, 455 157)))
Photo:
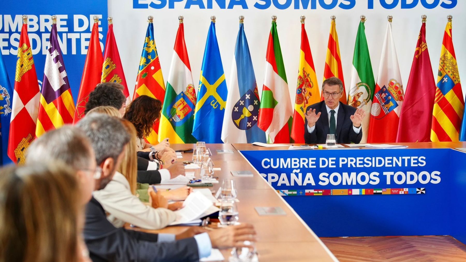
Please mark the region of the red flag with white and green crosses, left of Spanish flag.
POLYGON ((290 142, 292 114, 287 75, 278 40, 277 22, 273 19, 268 36, 264 86, 258 121, 258 126, 266 132, 269 143, 290 142))

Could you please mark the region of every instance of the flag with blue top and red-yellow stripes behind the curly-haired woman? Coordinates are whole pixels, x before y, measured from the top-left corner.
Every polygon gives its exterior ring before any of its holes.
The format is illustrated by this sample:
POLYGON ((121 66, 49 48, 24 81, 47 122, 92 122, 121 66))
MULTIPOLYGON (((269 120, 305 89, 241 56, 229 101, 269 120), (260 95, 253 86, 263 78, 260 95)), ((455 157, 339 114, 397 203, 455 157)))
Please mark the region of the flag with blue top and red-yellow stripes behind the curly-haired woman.
MULTIPOLYGON (((157 47, 154 39, 154 18, 149 16, 149 25, 144 40, 143 53, 139 61, 139 69, 137 71, 136 87, 134 88, 133 100, 140 95, 148 95, 158 99, 164 104, 165 98, 165 83, 162 76, 162 68, 158 59, 157 47)), ((145 139, 151 144, 158 143, 158 121, 153 125, 151 134, 145 139)), ((164 138, 162 138, 164 139, 164 138)))

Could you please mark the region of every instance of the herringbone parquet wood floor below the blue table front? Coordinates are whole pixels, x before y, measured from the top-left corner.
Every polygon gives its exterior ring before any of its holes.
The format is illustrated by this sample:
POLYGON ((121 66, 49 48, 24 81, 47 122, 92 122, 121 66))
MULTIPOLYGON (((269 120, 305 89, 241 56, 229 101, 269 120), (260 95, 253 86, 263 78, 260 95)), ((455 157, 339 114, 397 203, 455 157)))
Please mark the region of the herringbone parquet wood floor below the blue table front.
POLYGON ((451 236, 322 237, 340 262, 466 262, 466 246, 451 236))

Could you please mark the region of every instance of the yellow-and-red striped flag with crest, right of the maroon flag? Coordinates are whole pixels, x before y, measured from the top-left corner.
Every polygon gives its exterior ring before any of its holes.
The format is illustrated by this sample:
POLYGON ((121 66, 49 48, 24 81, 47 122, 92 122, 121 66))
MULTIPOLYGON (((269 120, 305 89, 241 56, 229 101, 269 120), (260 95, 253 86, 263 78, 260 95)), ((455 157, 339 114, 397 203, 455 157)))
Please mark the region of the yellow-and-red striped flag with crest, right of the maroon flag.
POLYGON ((465 102, 459 81, 452 41, 452 17, 448 16, 440 53, 435 104, 432 113, 432 142, 459 141, 465 102))

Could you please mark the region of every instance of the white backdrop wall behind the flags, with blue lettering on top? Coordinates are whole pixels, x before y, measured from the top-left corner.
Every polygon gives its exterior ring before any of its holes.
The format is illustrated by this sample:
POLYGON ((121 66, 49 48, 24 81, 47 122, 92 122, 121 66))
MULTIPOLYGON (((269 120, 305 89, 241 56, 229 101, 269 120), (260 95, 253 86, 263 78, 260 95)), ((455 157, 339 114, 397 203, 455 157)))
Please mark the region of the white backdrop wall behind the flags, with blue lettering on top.
MULTIPOLYGON (((137 2, 137 0, 134 1, 137 2)), ((206 7, 207 1, 203 0, 206 7)), ((381 1, 393 2, 393 0, 381 1)), ((432 3, 437 0, 422 1, 432 3)), ((138 2, 147 4, 151 0, 139 0, 138 2)), ((153 0, 153 2, 159 3, 159 0, 153 0)), ((249 9, 243 9, 240 6, 235 6, 233 9, 220 9, 215 0, 213 1, 212 9, 199 9, 197 6, 185 9, 185 2, 186 0, 175 2, 175 8, 173 9, 168 8, 168 3, 162 9, 153 9, 151 7, 147 9, 133 9, 133 1, 109 0, 108 13, 113 16, 115 37, 131 96, 136 82, 137 68, 147 29, 147 16, 149 15, 154 16, 154 34, 165 82, 168 77, 173 45, 178 29, 178 15, 185 17, 185 40, 195 84, 199 82, 200 67, 210 24, 210 16, 215 15, 217 17, 217 39, 219 41, 226 83, 228 84, 234 46, 238 34, 238 17, 244 15, 245 32, 253 59, 259 94, 261 94, 264 77, 265 55, 271 27, 271 16, 274 14, 277 15, 277 29, 287 73, 290 99, 294 102, 301 44, 301 15, 306 16, 306 31, 314 58, 319 86, 322 85, 329 39, 330 16, 333 14, 336 15, 336 29, 340 43, 343 74, 345 84, 347 85, 346 90, 348 91, 356 31, 361 14, 364 14, 367 19, 365 22, 366 36, 376 80, 387 15, 393 15, 392 27, 404 87, 408 83, 414 49, 421 27, 421 15, 427 15, 426 39, 431 57, 432 74, 435 81, 437 81, 440 50, 447 22, 446 17, 448 14, 451 14, 453 16, 453 44, 458 60, 459 74, 466 81, 466 20, 462 17, 464 10, 466 10, 466 1, 464 0, 458 0, 456 7, 452 9, 445 9, 440 6, 427 9, 421 5, 420 1, 412 9, 401 9, 400 4, 393 9, 384 9, 380 6, 378 0, 374 1, 374 9, 368 9, 367 0, 356 0, 356 6, 349 10, 343 10, 339 7, 325 10, 319 4, 317 4, 317 9, 315 10, 295 10, 293 9, 294 2, 285 10, 279 10, 273 5, 265 10, 260 10, 254 7, 255 0, 246 0, 249 9)), ((280 2, 286 1, 280 0, 280 2)), ((331 1, 326 0, 326 2, 330 3, 331 1)), ((408 2, 412 2, 412 0, 408 0, 408 2)), ((440 0, 441 2, 450 3, 451 0, 440 0)), ((259 1, 259 3, 263 4, 262 1, 259 1)), ((228 6, 228 0, 226 1, 226 6, 228 6)), ((463 93, 465 91, 466 87, 463 87, 463 93)))

